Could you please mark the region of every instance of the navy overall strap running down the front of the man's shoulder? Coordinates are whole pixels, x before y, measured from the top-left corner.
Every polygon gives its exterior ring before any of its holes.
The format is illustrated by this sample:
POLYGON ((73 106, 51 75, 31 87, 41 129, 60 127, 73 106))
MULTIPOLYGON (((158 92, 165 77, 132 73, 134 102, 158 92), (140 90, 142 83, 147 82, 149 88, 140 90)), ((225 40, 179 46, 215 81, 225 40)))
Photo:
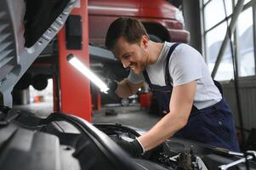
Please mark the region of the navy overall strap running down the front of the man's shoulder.
POLYGON ((179 45, 180 43, 174 43, 174 45, 172 45, 172 47, 169 49, 168 55, 167 55, 167 59, 166 59, 166 65, 165 65, 165 75, 164 75, 164 79, 165 79, 165 83, 167 86, 173 86, 171 84, 171 82, 173 82, 172 77, 170 76, 170 71, 169 71, 169 60, 171 58, 171 55, 174 52, 174 49, 179 45))

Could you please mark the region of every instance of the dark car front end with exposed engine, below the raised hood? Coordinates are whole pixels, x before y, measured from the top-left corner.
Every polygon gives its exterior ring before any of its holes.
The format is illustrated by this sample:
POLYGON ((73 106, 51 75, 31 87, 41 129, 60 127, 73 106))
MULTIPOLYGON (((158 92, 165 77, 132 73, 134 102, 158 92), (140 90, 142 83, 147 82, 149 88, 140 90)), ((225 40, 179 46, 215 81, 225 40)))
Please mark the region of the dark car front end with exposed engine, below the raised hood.
POLYGON ((129 141, 142 133, 145 131, 121 124, 92 125, 60 112, 41 118, 1 106, 0 168, 256 169, 253 150, 236 153, 171 138, 134 158, 115 144, 121 138, 129 141))

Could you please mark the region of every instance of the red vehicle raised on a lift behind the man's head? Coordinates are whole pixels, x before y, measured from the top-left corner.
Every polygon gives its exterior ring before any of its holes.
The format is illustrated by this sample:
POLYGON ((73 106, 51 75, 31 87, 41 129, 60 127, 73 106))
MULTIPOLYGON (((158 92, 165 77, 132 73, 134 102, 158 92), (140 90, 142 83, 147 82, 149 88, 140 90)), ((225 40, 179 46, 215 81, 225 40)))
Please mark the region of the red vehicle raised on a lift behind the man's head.
POLYGON ((140 20, 152 41, 190 40, 182 12, 166 0, 88 0, 89 42, 104 46, 108 27, 120 16, 140 20))

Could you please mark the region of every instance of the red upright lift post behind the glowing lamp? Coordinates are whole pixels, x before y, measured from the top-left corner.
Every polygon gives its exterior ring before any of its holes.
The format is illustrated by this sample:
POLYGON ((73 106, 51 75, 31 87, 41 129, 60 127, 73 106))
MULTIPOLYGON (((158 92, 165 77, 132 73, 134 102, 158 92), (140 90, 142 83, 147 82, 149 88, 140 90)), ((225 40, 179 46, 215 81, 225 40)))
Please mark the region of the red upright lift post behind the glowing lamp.
MULTIPOLYGON (((79 21, 81 22, 80 25, 71 26, 72 22, 75 20, 70 20, 70 26, 66 25, 58 35, 60 65, 60 111, 80 116, 86 119, 88 122, 91 122, 92 108, 90 82, 66 60, 66 56, 68 54, 75 54, 77 58, 79 58, 85 65, 89 65, 87 6, 87 1, 81 0, 80 3, 77 4, 77 8, 74 8, 71 12, 71 14, 75 17, 74 19, 77 20, 78 25, 79 21), (79 27, 81 29, 80 33, 79 27), (67 30, 67 28, 70 30, 67 30), (67 36, 71 38, 67 39, 67 36), (78 45, 75 44, 73 47, 72 45, 69 47, 69 42, 78 42, 78 45)), ((75 22, 74 24, 77 23, 75 22)))

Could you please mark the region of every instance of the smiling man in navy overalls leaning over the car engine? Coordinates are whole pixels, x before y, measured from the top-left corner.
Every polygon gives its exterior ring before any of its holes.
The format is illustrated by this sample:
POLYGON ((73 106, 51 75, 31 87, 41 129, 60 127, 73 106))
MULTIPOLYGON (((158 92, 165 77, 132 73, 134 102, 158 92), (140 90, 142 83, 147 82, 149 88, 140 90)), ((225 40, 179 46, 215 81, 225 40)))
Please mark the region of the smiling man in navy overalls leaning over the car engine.
POLYGON ((138 156, 171 136, 238 151, 230 108, 214 85, 208 67, 196 49, 182 43, 152 42, 144 26, 131 18, 115 20, 105 47, 130 68, 128 78, 112 82, 110 93, 127 98, 144 82, 168 114, 122 148, 138 156))

